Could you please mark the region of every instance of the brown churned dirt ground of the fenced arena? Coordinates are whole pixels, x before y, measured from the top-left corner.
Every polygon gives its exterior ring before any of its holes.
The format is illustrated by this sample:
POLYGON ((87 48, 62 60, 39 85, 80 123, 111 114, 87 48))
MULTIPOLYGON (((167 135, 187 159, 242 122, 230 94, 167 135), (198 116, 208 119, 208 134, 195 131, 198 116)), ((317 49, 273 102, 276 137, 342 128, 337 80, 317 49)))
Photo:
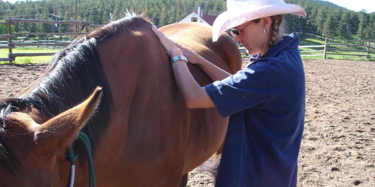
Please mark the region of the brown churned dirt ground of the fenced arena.
MULTIPOLYGON (((245 66, 248 58, 243 59, 245 66)), ((305 130, 298 186, 375 186, 375 62, 304 60, 305 130)), ((1 65, 0 97, 15 97, 45 65, 1 65)), ((213 187, 195 169, 190 187, 213 187)))

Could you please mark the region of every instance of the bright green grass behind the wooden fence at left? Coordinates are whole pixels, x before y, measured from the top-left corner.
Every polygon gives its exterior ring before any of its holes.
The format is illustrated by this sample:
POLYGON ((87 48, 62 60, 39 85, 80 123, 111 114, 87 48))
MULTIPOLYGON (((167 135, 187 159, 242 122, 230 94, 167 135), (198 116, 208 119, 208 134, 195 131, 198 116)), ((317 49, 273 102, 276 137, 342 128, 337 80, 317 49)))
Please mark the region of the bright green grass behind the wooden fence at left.
MULTIPOLYGON (((62 50, 62 48, 35 48, 35 47, 17 47, 12 49, 12 53, 56 53, 62 50)), ((7 58, 9 49, 0 49, 0 58, 7 58)), ((13 64, 44 64, 51 61, 52 56, 17 56, 13 64)), ((9 64, 10 62, 0 62, 1 64, 9 64)))

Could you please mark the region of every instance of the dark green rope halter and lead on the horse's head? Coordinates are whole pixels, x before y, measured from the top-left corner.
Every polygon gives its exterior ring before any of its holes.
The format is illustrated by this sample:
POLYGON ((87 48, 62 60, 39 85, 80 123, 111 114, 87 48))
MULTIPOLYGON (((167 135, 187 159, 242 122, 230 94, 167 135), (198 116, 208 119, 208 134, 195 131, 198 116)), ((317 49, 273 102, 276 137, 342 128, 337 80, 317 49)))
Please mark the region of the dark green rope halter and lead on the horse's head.
MULTIPOLYGON (((24 101, 27 101, 28 103, 33 104, 36 107, 39 107, 49 116, 54 117, 54 115, 46 107, 43 107, 41 104, 34 102, 33 100, 28 99, 28 98, 18 98, 18 99, 23 99, 24 101)), ((87 151, 87 157, 89 159, 88 160, 89 162, 89 187, 96 187, 94 163, 92 159, 89 137, 87 137, 86 134, 80 131, 77 138, 80 139, 85 145, 85 148, 87 151)), ((67 155, 66 155, 66 160, 68 160, 68 162, 71 162, 71 170, 69 172, 68 187, 73 187, 73 184, 74 184, 74 175, 75 175, 75 163, 74 162, 77 160, 77 158, 78 158, 78 155, 74 153, 72 145, 69 145, 68 150, 67 150, 67 155)))

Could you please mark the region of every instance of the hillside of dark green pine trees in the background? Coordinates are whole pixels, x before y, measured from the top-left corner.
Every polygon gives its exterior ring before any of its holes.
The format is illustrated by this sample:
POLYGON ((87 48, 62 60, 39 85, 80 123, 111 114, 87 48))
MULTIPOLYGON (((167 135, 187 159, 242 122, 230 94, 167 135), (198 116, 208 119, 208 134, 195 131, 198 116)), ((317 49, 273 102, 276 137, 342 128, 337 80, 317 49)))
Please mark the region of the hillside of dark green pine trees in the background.
MULTIPOLYGON (((375 13, 365 10, 354 12, 321 0, 285 0, 299 4, 307 13, 306 18, 291 14, 285 15, 288 32, 299 31, 316 34, 321 37, 351 38, 355 34, 359 39, 375 40, 375 13)), ((191 12, 197 12, 198 4, 204 14, 218 15, 226 10, 225 0, 78 0, 77 20, 90 21, 92 24, 107 24, 110 13, 113 19, 123 17, 126 9, 136 13, 145 12, 156 25, 166 25, 180 21, 191 12)), ((21 1, 15 4, 0 0, 0 20, 6 18, 49 19, 50 14, 59 16, 59 20, 75 19, 75 0, 21 1)), ((72 25, 59 25, 58 31, 68 32, 72 25)), ((48 24, 17 23, 16 32, 51 32, 48 24)), ((6 34, 5 25, 0 25, 0 34, 6 34)))

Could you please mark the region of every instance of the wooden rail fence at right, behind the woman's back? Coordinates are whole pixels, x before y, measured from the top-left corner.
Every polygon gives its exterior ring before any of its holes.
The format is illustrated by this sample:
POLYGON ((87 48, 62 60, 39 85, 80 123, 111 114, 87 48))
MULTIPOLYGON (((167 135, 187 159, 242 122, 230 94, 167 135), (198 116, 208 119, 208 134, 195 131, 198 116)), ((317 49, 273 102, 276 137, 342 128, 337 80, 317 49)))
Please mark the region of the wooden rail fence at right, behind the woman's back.
POLYGON ((332 38, 326 38, 324 45, 318 45, 318 46, 299 46, 299 48, 314 48, 314 47, 324 47, 323 50, 312 50, 312 51, 301 51, 301 53, 312 53, 312 52, 323 52, 323 54, 318 55, 301 55, 301 56, 323 56, 323 59, 327 58, 327 55, 343 55, 343 56, 365 56, 366 59, 369 58, 375 58, 375 56, 371 56, 372 54, 375 54, 375 51, 372 51, 372 49, 375 49, 375 46, 371 45, 371 40, 344 40, 344 39, 332 39, 332 38), (334 43, 334 42, 340 41, 340 43, 334 43), (344 42, 344 43, 341 43, 344 42), (361 44, 350 44, 350 42, 359 42, 359 43, 366 43, 367 45, 361 45, 361 44), (331 48, 330 46, 345 46, 345 47, 362 47, 362 49, 337 49, 337 48, 331 48), (363 49, 365 48, 365 49, 363 49), (333 53, 334 51, 351 51, 351 52, 358 52, 357 54, 343 54, 343 53, 333 53), (360 52, 366 53, 365 54, 359 54, 360 52))

